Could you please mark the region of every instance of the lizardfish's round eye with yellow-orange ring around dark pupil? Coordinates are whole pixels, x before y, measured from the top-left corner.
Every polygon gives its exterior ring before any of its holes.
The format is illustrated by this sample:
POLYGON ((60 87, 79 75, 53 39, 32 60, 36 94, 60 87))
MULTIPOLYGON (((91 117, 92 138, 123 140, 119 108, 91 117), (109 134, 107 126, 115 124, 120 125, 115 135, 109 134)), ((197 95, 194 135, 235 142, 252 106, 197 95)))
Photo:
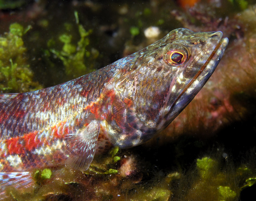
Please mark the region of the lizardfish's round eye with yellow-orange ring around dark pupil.
POLYGON ((166 64, 180 67, 189 58, 190 54, 188 49, 180 43, 171 43, 166 46, 164 51, 164 60, 166 64))

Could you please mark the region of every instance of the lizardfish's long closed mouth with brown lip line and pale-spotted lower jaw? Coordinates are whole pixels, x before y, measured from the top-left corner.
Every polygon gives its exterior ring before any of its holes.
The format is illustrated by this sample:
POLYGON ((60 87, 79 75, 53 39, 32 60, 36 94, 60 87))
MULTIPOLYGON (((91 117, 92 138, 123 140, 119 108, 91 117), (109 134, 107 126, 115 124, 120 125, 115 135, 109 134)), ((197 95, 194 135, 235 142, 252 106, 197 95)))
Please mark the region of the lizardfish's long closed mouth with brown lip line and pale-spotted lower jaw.
MULTIPOLYGON (((221 33, 222 37, 222 33, 221 33)), ((193 79, 187 84, 187 86, 182 90, 180 95, 174 101, 172 105, 172 112, 168 115, 172 120, 177 117, 178 114, 192 101, 196 94, 202 89, 207 80, 211 77, 212 73, 216 69, 219 61, 221 60, 227 44, 229 42, 228 38, 220 38, 219 42, 215 46, 211 55, 208 57, 207 61, 196 73, 193 79), (176 113, 176 115, 174 115, 176 113), (173 115, 173 116, 172 116, 173 115)))

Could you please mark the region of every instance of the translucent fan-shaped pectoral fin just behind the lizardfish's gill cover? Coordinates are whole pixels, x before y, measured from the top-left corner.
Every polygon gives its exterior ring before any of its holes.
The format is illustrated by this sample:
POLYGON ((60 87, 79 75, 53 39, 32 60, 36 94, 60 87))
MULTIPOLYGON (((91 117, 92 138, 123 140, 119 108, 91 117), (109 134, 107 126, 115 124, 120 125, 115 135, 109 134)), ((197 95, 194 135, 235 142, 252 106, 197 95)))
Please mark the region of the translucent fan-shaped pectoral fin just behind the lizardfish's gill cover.
POLYGON ((67 164, 77 170, 86 171, 95 154, 99 136, 99 123, 91 121, 78 133, 68 134, 67 151, 69 158, 67 164))

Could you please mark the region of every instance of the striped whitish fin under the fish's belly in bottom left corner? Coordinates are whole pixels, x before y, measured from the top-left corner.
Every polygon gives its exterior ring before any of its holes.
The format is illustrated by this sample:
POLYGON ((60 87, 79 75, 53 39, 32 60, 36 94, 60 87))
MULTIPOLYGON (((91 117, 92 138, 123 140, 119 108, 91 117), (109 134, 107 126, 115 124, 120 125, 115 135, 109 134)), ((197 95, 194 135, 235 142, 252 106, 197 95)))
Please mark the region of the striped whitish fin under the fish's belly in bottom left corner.
POLYGON ((12 186, 16 189, 31 186, 31 172, 0 172, 0 200, 5 198, 5 188, 12 186))

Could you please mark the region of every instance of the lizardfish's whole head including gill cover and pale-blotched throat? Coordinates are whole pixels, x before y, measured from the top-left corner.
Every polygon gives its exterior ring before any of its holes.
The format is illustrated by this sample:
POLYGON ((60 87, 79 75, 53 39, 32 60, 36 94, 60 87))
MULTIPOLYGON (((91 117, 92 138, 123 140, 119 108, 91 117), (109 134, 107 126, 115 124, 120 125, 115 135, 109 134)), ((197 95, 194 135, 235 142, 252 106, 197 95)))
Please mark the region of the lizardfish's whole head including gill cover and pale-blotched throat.
POLYGON ((221 31, 182 28, 128 56, 130 62, 124 58, 129 75, 124 76, 121 92, 125 95, 129 91, 133 104, 113 106, 113 117, 108 121, 112 143, 133 147, 165 129, 212 75, 227 43, 221 31), (122 110, 125 112, 117 115, 122 110))

